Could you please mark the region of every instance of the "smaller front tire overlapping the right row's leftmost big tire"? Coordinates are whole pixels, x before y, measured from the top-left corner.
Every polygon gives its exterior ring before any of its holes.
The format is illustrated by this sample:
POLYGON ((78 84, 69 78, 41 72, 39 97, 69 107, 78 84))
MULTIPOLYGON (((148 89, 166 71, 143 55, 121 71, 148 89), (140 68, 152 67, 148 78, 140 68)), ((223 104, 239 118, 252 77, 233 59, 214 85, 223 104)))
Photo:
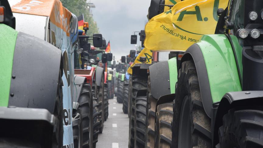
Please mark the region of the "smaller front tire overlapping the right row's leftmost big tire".
POLYGON ((134 128, 134 141, 135 147, 145 147, 145 133, 146 133, 146 105, 147 97, 140 96, 135 100, 135 128, 134 128))

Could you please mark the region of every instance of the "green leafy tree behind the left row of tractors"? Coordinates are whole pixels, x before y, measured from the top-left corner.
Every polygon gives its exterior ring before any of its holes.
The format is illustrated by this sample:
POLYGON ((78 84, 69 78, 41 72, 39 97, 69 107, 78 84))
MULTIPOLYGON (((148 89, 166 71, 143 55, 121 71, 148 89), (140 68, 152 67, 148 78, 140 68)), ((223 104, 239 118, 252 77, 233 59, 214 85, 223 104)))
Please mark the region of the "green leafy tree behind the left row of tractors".
POLYGON ((94 21, 92 14, 89 12, 88 4, 86 0, 61 0, 63 6, 76 16, 84 14, 85 22, 89 23, 88 36, 92 36, 94 33, 100 33, 97 23, 94 21))

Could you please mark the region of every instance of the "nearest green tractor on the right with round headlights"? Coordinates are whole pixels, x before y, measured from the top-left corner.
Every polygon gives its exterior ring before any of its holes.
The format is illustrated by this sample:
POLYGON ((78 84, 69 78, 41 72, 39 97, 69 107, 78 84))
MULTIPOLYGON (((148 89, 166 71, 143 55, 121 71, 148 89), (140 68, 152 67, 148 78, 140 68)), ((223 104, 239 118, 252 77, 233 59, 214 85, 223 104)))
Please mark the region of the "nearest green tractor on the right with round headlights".
POLYGON ((173 148, 263 147, 262 5, 230 0, 218 10, 216 34, 204 35, 183 55, 173 148))

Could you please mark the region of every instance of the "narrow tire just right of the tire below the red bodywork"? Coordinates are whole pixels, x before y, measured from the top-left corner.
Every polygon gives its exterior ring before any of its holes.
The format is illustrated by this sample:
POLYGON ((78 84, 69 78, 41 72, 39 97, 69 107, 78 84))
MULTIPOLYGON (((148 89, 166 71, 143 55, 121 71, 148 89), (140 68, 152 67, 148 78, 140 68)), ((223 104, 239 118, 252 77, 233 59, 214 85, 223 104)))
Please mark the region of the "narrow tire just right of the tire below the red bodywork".
POLYGON ((99 111, 99 101, 97 94, 97 85, 96 81, 92 83, 92 93, 93 93, 93 148, 96 147, 96 143, 98 142, 98 136, 100 133, 100 116, 101 112, 99 111))

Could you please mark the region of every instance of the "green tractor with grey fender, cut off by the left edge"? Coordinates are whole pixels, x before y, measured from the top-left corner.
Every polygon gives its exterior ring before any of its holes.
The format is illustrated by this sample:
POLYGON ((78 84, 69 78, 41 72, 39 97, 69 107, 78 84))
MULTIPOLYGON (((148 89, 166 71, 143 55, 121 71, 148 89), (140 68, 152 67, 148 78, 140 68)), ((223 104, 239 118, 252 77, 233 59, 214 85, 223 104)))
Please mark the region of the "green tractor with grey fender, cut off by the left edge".
POLYGON ((62 147, 61 51, 16 26, 1 0, 0 147, 62 147))

